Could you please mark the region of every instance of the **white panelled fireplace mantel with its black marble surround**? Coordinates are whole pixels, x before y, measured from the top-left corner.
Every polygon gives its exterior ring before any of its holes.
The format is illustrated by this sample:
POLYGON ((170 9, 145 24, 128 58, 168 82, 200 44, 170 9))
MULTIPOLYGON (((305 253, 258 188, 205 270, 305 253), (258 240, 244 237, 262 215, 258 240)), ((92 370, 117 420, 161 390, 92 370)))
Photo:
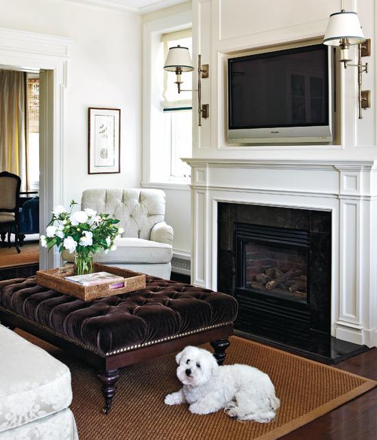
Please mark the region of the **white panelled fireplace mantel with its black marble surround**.
MULTIPOLYGON (((312 247, 320 256, 308 273, 311 334, 325 335, 331 356, 339 341, 374 347, 376 160, 313 159, 313 148, 307 158, 296 159, 291 147, 242 152, 218 147, 207 150, 204 144, 197 158, 187 160, 192 167, 191 282, 236 294, 235 223, 309 232, 309 258, 312 247), (316 330, 322 324, 326 330, 316 330)), ((308 350, 315 350, 317 339, 309 339, 308 350)))

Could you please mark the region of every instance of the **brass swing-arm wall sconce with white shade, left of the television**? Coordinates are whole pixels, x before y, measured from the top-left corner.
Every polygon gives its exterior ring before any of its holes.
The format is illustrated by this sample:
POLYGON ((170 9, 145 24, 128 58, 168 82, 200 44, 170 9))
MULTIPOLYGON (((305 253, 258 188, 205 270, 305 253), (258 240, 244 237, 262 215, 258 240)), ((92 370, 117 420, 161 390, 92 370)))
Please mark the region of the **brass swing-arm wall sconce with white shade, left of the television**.
POLYGON ((195 68, 191 61, 189 49, 187 47, 171 47, 167 54, 167 59, 164 66, 165 71, 175 72, 177 75, 178 93, 181 92, 197 92, 197 109, 199 113, 199 127, 202 125, 202 117, 209 117, 209 104, 203 104, 202 106, 202 78, 208 78, 208 64, 203 64, 202 69, 202 56, 198 55, 198 68, 197 68, 197 90, 182 90, 181 89, 181 75, 182 72, 191 72, 195 68))

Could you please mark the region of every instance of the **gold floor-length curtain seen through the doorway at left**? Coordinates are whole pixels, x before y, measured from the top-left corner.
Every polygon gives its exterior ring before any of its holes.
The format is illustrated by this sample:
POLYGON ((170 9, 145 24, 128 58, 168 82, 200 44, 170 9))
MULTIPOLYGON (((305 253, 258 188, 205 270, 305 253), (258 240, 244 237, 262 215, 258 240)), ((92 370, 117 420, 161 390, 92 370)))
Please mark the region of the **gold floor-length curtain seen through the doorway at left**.
POLYGON ((0 169, 27 191, 27 74, 0 70, 0 169))

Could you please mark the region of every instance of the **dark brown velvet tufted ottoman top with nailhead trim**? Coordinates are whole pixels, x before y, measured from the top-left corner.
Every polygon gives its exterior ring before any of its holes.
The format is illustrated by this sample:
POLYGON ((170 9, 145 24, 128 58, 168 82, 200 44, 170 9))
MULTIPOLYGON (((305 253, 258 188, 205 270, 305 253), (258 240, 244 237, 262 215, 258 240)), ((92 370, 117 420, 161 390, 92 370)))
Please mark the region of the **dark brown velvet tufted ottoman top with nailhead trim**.
POLYGON ((30 277, 0 282, 0 308, 110 356, 232 323, 238 305, 225 293, 152 276, 145 289, 92 301, 30 277))

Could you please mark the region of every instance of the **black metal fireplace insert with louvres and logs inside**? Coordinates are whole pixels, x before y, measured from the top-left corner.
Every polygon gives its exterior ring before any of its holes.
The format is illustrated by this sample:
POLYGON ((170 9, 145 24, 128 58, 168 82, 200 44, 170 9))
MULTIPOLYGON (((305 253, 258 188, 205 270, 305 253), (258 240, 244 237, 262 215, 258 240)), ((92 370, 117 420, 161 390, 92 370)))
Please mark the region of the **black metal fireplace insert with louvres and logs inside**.
POLYGON ((330 279, 311 291, 321 258, 311 231, 234 222, 234 239, 236 328, 290 345, 305 343, 312 329, 330 334, 330 279))

